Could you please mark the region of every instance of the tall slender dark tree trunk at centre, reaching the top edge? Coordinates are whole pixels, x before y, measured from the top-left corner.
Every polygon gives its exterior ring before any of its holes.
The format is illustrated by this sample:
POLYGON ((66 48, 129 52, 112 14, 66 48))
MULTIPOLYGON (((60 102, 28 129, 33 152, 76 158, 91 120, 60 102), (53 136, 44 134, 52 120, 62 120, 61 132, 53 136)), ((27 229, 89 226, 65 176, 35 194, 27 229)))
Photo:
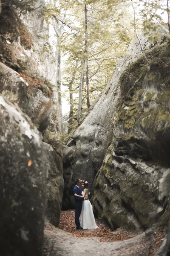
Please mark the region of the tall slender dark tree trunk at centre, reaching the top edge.
POLYGON ((89 96, 89 79, 88 79, 88 20, 87 20, 87 5, 85 4, 85 68, 86 68, 86 89, 87 89, 87 107, 90 108, 89 96))

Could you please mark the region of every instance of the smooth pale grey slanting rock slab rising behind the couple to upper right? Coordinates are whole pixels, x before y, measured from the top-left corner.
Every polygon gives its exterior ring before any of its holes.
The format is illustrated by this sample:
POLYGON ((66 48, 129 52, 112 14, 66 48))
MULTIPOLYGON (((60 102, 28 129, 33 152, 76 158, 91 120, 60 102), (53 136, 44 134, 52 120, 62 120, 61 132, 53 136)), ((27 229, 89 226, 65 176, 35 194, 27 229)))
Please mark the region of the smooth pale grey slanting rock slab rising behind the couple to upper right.
MULTIPOLYGON (((161 27, 157 30, 157 34, 160 35, 157 44, 162 44, 167 31, 161 27)), ((149 41, 144 33, 141 35, 141 42, 144 50, 149 50, 155 45, 155 42, 149 41)), ((94 183, 96 183, 95 177, 99 175, 99 169, 102 166, 105 154, 109 146, 112 145, 113 121, 117 113, 118 102, 121 101, 119 78, 126 67, 141 54, 139 41, 135 38, 127 50, 127 55, 118 62, 114 75, 99 101, 77 128, 73 140, 68 143, 68 147, 73 148, 75 152, 70 163, 71 171, 69 172, 71 176, 68 183, 68 187, 71 188, 70 191, 73 189, 74 180, 80 178, 88 180, 89 190, 93 195, 94 183)), ((63 166, 63 173, 65 172, 67 170, 63 166)), ((71 201, 72 195, 70 192, 69 197, 71 201)), ((65 201, 65 197, 63 197, 63 201, 65 201)), ((70 203, 68 208, 70 208, 70 203)))

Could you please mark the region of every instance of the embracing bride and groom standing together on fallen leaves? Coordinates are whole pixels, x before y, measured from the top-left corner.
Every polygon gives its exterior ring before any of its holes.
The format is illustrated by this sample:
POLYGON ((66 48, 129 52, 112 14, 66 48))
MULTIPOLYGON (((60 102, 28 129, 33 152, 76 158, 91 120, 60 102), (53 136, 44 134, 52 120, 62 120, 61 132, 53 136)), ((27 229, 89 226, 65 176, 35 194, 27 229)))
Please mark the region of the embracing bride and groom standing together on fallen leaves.
POLYGON ((88 182, 77 179, 74 187, 75 196, 75 224, 77 229, 95 229, 98 228, 93 214, 93 208, 88 200, 88 182), (80 188, 82 186, 83 190, 80 188), (82 212, 81 221, 79 216, 82 212))

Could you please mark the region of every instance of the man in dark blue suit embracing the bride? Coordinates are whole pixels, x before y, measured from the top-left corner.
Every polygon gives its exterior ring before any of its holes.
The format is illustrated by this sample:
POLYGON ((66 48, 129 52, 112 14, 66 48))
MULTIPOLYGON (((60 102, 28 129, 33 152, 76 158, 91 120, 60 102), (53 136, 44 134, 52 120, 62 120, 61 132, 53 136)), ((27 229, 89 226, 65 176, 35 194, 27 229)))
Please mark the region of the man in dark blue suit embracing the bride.
MULTIPOLYGON (((80 189, 82 181, 77 179, 75 181, 75 187, 73 189, 73 192, 76 193, 77 195, 82 195, 82 190, 80 189)), ((81 214, 82 211, 82 201, 83 198, 79 198, 79 197, 74 197, 75 200, 75 224, 76 224, 76 228, 77 229, 82 229, 82 227, 80 227, 80 222, 79 222, 79 216, 81 214)))

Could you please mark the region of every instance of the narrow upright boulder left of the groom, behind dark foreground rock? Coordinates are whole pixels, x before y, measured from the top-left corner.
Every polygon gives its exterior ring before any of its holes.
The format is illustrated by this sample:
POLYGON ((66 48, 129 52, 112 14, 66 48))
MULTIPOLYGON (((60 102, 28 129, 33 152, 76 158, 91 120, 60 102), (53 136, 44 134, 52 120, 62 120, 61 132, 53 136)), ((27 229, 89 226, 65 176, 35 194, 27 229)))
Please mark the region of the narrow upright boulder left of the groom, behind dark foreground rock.
MULTIPOLYGON (((62 155, 47 143, 44 144, 45 169, 47 176, 47 218, 58 227, 62 207, 64 180, 62 175, 62 155)), ((56 148, 57 150, 57 148, 56 148)))

